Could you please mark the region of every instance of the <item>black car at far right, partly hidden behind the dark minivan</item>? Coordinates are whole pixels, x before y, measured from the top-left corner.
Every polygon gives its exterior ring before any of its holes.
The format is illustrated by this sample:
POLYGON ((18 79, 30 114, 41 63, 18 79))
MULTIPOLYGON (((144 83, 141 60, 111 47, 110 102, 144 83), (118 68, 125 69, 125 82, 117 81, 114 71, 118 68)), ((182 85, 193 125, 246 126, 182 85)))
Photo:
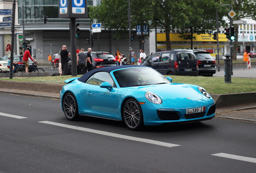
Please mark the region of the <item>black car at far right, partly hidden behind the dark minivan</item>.
POLYGON ((198 75, 213 76, 216 73, 216 61, 205 50, 193 50, 198 62, 198 75))

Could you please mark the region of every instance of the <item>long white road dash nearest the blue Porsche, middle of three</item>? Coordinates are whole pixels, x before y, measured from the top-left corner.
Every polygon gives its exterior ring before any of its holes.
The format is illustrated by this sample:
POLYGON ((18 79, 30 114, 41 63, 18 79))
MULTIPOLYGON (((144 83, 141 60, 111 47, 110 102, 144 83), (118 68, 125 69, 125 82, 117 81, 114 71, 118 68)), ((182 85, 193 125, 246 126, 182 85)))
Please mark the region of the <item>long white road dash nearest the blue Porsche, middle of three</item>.
POLYGON ((131 141, 139 141, 139 142, 143 142, 143 143, 150 143, 150 144, 154 144, 154 145, 161 145, 161 146, 164 146, 164 147, 177 147, 177 146, 180 146, 180 145, 171 144, 171 143, 154 141, 154 140, 151 140, 151 139, 143 139, 143 138, 138 138, 138 137, 131 137, 131 136, 127 136, 127 135, 120 135, 120 134, 116 134, 116 133, 110 133, 110 132, 105 132, 105 131, 88 129, 88 128, 84 128, 84 127, 78 127, 78 126, 66 125, 66 124, 61 124, 61 123, 55 123, 55 122, 51 122, 51 121, 40 121, 39 123, 56 125, 56 126, 59 126, 59 127, 66 127, 66 128, 69 128, 69 129, 85 131, 85 132, 90 132, 90 133, 96 133, 96 134, 99 134, 99 135, 105 135, 105 136, 110 136, 110 137, 117 137, 117 138, 121 138, 121 139, 128 139, 128 140, 131 140, 131 141))

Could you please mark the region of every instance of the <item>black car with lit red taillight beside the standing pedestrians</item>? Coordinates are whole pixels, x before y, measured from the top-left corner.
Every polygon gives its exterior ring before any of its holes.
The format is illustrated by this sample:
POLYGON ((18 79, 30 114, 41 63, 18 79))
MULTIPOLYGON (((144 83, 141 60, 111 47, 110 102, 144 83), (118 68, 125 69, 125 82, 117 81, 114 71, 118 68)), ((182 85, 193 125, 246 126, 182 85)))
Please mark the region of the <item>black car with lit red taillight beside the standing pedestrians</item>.
MULTIPOLYGON (((87 52, 85 52, 87 53, 87 52)), ((105 66, 116 66, 116 58, 109 52, 91 52, 91 58, 93 59, 93 69, 101 68, 105 66)), ((68 62, 68 74, 72 74, 71 61, 68 62)), ((86 67, 85 72, 88 72, 86 67)))

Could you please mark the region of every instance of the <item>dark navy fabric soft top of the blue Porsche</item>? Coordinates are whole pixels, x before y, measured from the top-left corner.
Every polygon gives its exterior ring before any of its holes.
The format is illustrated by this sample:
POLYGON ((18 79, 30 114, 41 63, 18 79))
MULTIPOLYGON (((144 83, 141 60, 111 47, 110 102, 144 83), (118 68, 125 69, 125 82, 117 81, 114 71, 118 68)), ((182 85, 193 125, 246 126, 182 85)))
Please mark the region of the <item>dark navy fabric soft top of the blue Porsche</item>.
POLYGON ((146 67, 146 68, 149 68, 147 66, 140 66, 140 65, 124 65, 124 66, 101 67, 101 68, 96 68, 94 70, 91 70, 91 71, 85 73, 83 76, 78 78, 78 80, 81 81, 81 82, 85 82, 87 79, 89 79, 96 72, 108 72, 108 73, 110 73, 113 70, 122 69, 122 68, 130 68, 130 67, 146 67))

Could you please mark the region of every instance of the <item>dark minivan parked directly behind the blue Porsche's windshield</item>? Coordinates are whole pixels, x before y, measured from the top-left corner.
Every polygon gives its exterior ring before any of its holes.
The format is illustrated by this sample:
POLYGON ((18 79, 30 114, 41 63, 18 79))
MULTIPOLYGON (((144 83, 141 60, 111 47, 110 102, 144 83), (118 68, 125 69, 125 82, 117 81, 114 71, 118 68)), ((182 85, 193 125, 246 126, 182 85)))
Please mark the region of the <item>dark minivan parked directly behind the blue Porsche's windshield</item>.
POLYGON ((155 52, 141 65, 149 66, 161 74, 198 76, 197 60, 192 50, 155 52))

